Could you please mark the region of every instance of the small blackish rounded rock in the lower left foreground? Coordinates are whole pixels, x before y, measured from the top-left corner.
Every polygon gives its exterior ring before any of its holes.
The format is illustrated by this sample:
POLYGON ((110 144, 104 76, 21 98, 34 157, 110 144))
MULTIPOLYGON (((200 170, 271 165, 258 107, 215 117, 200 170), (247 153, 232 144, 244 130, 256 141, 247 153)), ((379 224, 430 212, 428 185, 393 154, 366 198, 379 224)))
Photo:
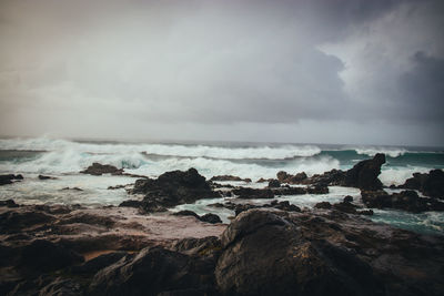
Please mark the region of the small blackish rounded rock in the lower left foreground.
POLYGON ((82 262, 83 257, 71 249, 37 239, 23 247, 18 266, 36 272, 51 272, 82 262))

